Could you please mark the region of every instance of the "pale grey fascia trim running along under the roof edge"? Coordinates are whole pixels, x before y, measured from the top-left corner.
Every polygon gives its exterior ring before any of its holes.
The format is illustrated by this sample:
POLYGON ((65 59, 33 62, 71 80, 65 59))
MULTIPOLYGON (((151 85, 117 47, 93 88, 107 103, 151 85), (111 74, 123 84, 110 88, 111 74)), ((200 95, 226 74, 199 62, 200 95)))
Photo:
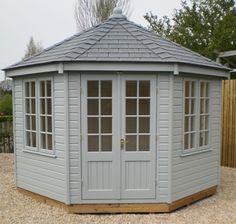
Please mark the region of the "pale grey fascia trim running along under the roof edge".
MULTIPOLYGON (((32 65, 24 68, 6 70, 7 77, 16 77, 29 74, 62 72, 61 62, 54 64, 32 65)), ((189 65, 181 63, 158 63, 158 62, 64 62, 64 71, 119 71, 119 72, 178 72, 187 74, 201 74, 208 76, 218 76, 228 78, 229 71, 227 68, 212 68, 200 65, 189 65)))

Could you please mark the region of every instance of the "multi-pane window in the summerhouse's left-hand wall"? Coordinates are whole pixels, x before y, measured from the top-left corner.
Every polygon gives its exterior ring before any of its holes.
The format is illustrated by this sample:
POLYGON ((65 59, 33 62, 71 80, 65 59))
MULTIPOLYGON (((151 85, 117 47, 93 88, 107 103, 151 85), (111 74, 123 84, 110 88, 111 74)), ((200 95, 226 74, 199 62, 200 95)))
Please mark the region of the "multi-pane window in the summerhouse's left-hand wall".
POLYGON ((24 85, 26 149, 52 151, 52 81, 26 81, 24 85))

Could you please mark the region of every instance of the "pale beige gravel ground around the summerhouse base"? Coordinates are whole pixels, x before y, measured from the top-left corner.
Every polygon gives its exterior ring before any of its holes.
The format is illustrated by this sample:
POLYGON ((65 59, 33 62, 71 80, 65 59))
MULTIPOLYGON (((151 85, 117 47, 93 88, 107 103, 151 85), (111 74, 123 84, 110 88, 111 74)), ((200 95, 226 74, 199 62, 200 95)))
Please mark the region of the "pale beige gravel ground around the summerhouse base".
POLYGON ((170 214, 74 215, 18 193, 13 165, 13 155, 0 154, 0 224, 236 224, 236 169, 221 168, 221 186, 216 195, 170 214))

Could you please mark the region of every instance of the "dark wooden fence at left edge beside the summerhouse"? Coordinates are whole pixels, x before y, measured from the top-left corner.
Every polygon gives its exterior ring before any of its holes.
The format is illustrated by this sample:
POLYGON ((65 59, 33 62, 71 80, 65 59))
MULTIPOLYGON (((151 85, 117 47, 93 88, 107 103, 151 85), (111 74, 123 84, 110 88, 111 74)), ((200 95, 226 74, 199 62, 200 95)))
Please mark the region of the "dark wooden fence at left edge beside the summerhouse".
POLYGON ((12 117, 0 117, 0 153, 13 153, 12 117))

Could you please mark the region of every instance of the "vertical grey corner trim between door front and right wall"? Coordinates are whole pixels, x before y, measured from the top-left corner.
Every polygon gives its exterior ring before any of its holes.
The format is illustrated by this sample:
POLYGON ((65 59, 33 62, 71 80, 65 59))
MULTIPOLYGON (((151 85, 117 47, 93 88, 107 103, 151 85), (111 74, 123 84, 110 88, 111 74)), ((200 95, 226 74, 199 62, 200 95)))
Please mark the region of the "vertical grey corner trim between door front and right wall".
POLYGON ((168 150, 168 203, 172 202, 172 154, 173 154, 173 89, 174 77, 170 75, 169 84, 169 150, 168 150))

